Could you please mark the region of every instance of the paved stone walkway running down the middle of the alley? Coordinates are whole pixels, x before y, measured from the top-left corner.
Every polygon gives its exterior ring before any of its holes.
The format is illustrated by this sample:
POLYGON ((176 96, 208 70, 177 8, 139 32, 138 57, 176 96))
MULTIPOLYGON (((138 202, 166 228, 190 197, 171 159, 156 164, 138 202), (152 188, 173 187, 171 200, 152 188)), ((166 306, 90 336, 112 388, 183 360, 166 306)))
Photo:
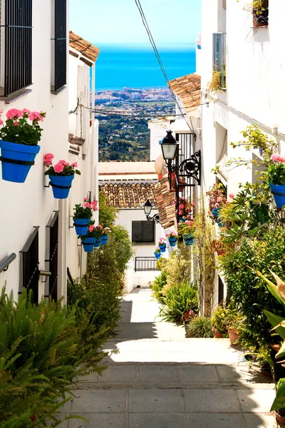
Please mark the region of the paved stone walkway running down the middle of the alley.
POLYGON ((102 377, 86 379, 65 412, 68 428, 274 428, 273 384, 249 370, 227 339, 186 339, 160 322, 150 290, 123 299, 120 335, 102 377))

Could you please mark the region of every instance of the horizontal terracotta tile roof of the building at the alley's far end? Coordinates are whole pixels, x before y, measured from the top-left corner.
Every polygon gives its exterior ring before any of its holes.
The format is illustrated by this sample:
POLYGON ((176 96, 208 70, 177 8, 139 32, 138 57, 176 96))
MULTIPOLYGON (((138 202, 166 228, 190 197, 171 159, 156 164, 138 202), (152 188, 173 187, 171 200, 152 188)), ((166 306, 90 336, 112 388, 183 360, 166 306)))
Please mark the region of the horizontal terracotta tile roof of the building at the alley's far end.
MULTIPOLYGON (((155 181, 156 183, 156 181, 155 181)), ((109 199, 110 205, 118 208, 142 208, 147 199, 153 206, 155 203, 155 183, 103 183, 99 186, 101 192, 109 199)))

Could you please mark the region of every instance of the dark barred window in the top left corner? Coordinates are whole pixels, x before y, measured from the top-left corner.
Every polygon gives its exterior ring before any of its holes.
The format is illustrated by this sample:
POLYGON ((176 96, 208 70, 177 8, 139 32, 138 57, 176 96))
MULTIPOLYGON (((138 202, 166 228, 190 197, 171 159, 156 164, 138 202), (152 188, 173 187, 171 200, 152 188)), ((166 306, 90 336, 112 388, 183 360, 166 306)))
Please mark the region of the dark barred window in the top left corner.
POLYGON ((3 0, 0 6, 0 96, 7 97, 32 83, 32 0, 3 0))

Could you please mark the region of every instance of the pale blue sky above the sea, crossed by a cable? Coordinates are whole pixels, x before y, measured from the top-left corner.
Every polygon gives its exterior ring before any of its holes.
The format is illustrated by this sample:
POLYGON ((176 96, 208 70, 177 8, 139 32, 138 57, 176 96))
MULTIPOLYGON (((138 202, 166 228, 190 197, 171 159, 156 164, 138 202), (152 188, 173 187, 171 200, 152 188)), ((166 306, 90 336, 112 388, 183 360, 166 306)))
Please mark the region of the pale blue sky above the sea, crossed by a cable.
MULTIPOLYGON (((140 4, 156 44, 195 42, 201 0, 140 0, 140 4)), ((98 47, 149 43, 135 0, 70 0, 70 29, 98 47)))

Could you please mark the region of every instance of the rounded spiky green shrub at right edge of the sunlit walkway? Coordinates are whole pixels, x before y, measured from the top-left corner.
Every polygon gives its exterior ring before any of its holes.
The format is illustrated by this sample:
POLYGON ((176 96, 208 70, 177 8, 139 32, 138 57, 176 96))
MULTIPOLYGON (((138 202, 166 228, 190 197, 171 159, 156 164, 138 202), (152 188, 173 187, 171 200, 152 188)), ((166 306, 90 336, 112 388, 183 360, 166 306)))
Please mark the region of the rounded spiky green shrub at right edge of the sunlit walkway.
POLYGON ((163 303, 160 310, 162 320, 170 322, 179 322, 182 320, 182 315, 187 310, 198 310, 198 293, 195 285, 190 285, 189 282, 182 282, 181 285, 174 285, 167 290, 167 294, 163 297, 163 303))

